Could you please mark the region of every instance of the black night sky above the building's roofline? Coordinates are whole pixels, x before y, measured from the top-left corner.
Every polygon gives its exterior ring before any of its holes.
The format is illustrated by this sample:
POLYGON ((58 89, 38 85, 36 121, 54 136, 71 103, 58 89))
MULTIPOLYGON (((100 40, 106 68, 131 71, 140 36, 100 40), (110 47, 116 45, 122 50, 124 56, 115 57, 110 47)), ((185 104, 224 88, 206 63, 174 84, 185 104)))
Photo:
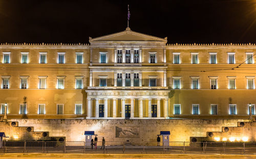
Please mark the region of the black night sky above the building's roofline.
POLYGON ((89 43, 125 30, 168 43, 255 43, 256 0, 0 1, 0 43, 89 43))

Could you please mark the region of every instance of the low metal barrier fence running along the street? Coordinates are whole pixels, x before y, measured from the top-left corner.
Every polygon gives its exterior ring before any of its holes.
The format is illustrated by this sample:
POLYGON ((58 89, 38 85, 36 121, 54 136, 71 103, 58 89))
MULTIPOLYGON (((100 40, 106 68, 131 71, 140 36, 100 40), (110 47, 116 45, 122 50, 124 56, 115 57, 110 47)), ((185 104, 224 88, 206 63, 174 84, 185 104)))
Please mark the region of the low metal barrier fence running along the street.
POLYGON ((220 153, 256 152, 251 142, 97 142, 3 141, 0 153, 220 153))

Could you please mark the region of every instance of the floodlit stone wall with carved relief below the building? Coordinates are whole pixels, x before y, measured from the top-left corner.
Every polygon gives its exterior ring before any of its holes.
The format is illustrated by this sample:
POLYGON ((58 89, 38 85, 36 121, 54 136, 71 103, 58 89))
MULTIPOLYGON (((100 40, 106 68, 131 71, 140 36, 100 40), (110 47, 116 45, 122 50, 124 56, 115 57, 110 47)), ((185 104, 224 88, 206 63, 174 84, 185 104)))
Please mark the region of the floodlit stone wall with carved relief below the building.
MULTIPOLYGON (((202 119, 174 119, 174 120, 86 120, 86 119, 11 119, 17 121, 18 126, 32 126, 34 131, 49 131, 50 137, 66 137, 66 141, 85 141, 84 131, 92 130, 106 141, 122 142, 156 142, 160 131, 170 131, 170 141, 189 141, 190 137, 206 137, 209 131, 222 131, 223 126, 236 127, 239 121, 246 120, 202 120, 202 119)), ((1 122, 7 123, 7 122, 1 122)), ((0 124, 1 131, 9 136, 8 140, 28 140, 29 133, 21 133, 13 129, 10 124, 0 124), (18 136, 18 139, 14 137, 18 136)), ((36 139, 30 139, 36 140, 36 139)), ((249 137, 254 141, 254 137, 249 137)))

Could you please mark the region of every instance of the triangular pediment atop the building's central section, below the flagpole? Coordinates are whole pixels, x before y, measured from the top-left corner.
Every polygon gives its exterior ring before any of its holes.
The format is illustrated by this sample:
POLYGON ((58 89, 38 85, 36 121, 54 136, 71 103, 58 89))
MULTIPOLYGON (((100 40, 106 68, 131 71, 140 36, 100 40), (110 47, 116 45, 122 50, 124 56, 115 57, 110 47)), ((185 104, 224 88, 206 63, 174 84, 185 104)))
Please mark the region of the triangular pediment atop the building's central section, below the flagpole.
POLYGON ((158 38, 142 33, 137 33, 134 31, 131 31, 130 28, 127 28, 123 32, 114 33, 98 38, 90 38, 90 42, 96 42, 96 41, 163 41, 167 42, 167 38, 158 38))

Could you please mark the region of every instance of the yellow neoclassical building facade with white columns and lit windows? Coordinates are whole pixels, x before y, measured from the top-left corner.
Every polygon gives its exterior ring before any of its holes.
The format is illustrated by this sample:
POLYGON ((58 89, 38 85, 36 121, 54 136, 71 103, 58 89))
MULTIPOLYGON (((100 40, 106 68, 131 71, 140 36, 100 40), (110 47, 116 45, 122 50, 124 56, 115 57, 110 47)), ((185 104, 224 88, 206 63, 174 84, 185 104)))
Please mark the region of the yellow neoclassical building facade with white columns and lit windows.
POLYGON ((167 44, 130 28, 89 41, 1 44, 1 116, 5 110, 8 118, 46 119, 255 113, 255 44, 167 44))

